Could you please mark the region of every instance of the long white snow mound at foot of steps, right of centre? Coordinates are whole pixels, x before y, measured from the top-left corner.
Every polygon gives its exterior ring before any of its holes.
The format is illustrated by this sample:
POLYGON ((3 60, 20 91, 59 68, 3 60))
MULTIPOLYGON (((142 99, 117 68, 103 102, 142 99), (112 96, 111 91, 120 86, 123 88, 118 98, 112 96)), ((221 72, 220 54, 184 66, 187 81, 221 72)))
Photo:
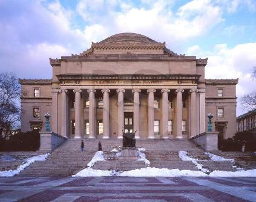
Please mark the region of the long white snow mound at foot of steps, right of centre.
POLYGON ((206 177, 207 174, 202 171, 167 169, 167 168, 141 168, 136 170, 125 171, 119 176, 127 177, 206 177))

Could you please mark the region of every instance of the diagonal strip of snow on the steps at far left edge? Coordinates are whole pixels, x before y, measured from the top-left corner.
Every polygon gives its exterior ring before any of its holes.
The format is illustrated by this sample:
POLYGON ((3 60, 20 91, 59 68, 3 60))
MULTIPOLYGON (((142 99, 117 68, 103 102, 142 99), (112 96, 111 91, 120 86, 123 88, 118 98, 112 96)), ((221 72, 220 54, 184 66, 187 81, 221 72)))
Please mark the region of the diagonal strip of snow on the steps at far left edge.
POLYGON ((16 170, 0 171, 0 177, 15 176, 16 174, 27 168, 30 164, 33 164, 35 161, 45 161, 49 155, 50 154, 46 153, 45 155, 32 156, 31 158, 25 159, 25 162, 20 165, 16 170))

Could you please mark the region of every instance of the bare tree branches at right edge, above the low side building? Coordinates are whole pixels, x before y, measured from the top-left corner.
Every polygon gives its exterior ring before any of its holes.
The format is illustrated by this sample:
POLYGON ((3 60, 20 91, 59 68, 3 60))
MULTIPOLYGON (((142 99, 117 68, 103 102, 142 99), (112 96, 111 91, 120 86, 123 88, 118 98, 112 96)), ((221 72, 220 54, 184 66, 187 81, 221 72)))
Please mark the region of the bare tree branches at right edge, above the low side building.
MULTIPOLYGON (((256 79, 256 66, 252 67, 252 78, 256 79)), ((252 110, 256 108, 256 90, 251 91, 250 93, 245 94, 240 99, 243 109, 252 110)))

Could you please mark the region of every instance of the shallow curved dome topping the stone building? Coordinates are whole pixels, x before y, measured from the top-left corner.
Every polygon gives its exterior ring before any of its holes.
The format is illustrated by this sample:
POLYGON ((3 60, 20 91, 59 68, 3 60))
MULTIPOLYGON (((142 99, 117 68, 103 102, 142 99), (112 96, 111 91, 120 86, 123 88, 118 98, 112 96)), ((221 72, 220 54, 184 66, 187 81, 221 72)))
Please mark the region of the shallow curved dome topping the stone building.
POLYGON ((136 34, 136 33, 130 33, 130 32, 112 35, 100 41, 99 43, 112 43, 112 42, 118 42, 118 41, 138 41, 141 43, 158 43, 155 40, 149 37, 146 37, 142 34, 136 34))

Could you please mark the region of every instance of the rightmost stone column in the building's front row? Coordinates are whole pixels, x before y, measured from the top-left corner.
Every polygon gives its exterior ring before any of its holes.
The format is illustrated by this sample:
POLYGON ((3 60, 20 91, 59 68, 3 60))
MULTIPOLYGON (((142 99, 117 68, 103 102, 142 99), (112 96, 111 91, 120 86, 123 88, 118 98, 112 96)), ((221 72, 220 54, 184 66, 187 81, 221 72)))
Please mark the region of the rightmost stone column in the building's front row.
POLYGON ((190 137, 196 136, 196 92, 197 89, 190 90, 190 137))

